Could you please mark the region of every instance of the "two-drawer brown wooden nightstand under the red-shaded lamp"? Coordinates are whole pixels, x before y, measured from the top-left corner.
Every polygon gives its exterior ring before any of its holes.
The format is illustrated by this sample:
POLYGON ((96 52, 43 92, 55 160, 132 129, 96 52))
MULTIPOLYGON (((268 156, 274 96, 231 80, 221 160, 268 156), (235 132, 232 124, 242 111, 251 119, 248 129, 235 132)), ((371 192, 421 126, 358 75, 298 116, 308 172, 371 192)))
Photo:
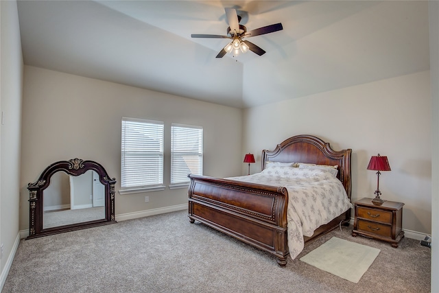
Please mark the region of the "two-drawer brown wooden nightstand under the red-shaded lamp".
POLYGON ((353 237, 364 235, 390 242, 394 248, 404 237, 403 203, 385 200, 380 206, 372 198, 362 198, 354 203, 355 218, 353 237))

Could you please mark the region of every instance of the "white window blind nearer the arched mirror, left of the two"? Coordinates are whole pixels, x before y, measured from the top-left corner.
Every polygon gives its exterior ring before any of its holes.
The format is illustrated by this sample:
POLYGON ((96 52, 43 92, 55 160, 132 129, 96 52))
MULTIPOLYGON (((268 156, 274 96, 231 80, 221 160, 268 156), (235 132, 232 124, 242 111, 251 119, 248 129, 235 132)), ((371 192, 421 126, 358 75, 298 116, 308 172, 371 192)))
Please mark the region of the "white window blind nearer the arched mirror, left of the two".
POLYGON ((163 185, 162 121, 122 118, 121 187, 163 185))

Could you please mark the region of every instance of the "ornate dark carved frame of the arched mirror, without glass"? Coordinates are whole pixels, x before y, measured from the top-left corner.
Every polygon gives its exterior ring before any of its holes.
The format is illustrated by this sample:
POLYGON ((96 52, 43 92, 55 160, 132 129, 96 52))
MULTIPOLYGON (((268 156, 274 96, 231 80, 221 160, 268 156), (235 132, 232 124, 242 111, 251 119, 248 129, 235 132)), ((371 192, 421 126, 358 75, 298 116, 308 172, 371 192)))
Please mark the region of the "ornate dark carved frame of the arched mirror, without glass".
POLYGON ((29 189, 29 236, 27 239, 116 223, 115 183, 115 178, 110 178, 104 167, 94 161, 82 161, 76 158, 69 161, 58 161, 49 165, 40 175, 40 178, 35 183, 29 183, 27 187, 29 189), (105 187, 105 218, 43 228, 43 194, 44 190, 50 185, 51 176, 60 171, 71 176, 80 176, 88 170, 97 172, 100 182, 105 187))

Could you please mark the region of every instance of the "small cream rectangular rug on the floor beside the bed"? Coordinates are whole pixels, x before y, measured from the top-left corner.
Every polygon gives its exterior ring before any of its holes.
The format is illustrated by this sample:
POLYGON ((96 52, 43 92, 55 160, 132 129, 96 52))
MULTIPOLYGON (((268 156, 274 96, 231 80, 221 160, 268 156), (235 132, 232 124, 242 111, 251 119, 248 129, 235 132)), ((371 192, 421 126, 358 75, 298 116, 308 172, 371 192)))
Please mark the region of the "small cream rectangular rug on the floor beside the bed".
POLYGON ((358 283, 379 252, 377 248, 332 237, 300 260, 337 277, 358 283))

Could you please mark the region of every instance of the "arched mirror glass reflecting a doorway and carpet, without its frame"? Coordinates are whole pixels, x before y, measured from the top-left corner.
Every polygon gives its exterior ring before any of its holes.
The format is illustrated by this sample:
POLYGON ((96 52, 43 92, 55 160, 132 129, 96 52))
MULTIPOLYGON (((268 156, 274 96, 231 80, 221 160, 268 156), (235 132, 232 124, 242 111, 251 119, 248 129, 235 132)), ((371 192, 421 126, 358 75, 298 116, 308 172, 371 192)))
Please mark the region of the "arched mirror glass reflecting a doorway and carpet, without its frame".
POLYGON ((80 176, 56 172, 45 189, 43 228, 105 218, 105 186, 99 174, 88 170, 80 176))

